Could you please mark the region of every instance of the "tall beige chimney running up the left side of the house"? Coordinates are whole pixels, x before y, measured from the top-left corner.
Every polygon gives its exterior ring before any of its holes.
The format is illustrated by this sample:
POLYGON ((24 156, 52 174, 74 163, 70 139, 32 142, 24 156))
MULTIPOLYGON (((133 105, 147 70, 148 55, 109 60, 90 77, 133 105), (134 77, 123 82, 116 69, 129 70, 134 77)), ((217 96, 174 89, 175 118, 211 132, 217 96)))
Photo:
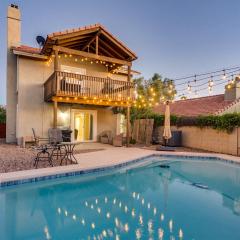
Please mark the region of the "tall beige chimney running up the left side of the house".
POLYGON ((7 11, 7 126, 6 142, 16 142, 17 118, 17 57, 12 47, 21 44, 21 13, 11 4, 7 11))

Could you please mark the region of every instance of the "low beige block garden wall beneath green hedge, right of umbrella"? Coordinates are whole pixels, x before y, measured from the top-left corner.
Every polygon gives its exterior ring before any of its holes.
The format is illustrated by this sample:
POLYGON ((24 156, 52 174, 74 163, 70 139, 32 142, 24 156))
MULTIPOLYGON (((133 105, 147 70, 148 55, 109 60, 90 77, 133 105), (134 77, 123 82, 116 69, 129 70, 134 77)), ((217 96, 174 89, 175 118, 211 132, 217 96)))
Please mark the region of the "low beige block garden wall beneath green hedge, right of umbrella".
MULTIPOLYGON (((212 128, 198 127, 171 127, 171 130, 182 131, 182 146, 202 149, 212 152, 237 155, 240 142, 238 129, 228 134, 212 128)), ((159 130, 162 136, 163 128, 159 130)))

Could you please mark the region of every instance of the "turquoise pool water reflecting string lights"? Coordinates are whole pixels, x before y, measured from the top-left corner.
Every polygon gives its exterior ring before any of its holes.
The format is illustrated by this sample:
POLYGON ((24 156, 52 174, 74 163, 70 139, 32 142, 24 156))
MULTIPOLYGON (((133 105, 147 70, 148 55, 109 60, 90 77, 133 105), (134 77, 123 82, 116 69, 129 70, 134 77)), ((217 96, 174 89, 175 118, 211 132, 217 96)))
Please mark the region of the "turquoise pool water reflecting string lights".
POLYGON ((3 188, 0 239, 239 240, 240 167, 164 159, 88 180, 3 188))

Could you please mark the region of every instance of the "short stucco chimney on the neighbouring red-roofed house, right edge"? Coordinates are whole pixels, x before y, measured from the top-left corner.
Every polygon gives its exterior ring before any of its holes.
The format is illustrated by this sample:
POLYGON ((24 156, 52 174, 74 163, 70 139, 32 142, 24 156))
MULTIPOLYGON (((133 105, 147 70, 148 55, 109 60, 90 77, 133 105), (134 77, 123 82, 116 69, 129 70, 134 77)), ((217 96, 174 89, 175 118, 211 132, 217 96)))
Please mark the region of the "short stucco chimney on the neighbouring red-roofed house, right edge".
POLYGON ((234 82, 225 86, 224 100, 234 101, 238 98, 240 98, 240 77, 235 77, 234 82))

